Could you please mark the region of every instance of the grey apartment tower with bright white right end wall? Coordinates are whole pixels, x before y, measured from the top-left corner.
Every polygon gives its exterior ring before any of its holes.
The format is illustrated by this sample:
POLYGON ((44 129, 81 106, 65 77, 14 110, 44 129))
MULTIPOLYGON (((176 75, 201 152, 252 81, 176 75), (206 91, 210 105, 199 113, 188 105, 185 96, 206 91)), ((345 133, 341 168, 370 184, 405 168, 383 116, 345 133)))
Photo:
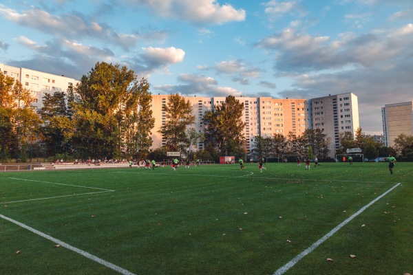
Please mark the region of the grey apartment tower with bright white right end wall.
POLYGON ((353 93, 328 95, 306 102, 309 129, 321 129, 330 138, 330 157, 340 146, 340 133, 359 128, 359 102, 353 93))

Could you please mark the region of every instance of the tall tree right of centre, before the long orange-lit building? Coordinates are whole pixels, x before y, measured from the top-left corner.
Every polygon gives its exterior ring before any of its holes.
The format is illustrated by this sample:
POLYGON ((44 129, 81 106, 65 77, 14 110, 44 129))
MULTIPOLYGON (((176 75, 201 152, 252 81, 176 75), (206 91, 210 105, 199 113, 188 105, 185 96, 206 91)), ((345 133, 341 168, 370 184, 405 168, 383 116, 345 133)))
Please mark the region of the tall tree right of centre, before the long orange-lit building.
POLYGON ((204 115, 205 141, 222 155, 243 156, 246 153, 242 112, 244 103, 227 96, 225 101, 204 115))

